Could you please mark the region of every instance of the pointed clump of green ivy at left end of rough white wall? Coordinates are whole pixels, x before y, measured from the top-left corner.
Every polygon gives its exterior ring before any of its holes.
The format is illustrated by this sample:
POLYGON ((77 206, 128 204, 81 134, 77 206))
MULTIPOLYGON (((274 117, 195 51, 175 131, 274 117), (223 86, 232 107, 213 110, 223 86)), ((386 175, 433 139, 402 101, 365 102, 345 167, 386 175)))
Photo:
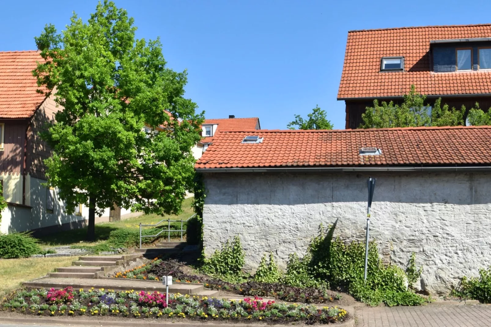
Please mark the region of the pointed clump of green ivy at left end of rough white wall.
POLYGON ((220 251, 216 250, 209 259, 204 260, 202 271, 220 276, 240 274, 244 267, 245 257, 241 240, 239 236, 236 236, 232 243, 227 240, 220 251))

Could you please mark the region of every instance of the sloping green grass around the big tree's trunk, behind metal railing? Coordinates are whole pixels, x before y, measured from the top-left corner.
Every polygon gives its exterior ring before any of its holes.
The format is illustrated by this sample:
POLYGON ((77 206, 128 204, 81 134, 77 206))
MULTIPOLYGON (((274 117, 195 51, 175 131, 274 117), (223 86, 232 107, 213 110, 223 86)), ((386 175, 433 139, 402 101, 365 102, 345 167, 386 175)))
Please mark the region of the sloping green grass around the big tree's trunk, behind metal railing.
MULTIPOLYGON (((38 238, 39 244, 43 246, 57 246, 57 245, 77 245, 77 246, 90 246, 97 245, 109 238, 109 233, 113 230, 119 228, 128 228, 128 229, 139 229, 139 223, 142 224, 155 224, 162 219, 183 219, 186 220, 191 217, 194 212, 192 208, 192 201, 194 198, 188 198, 184 200, 182 205, 182 213, 180 215, 166 215, 164 217, 158 215, 143 215, 135 218, 128 218, 121 221, 114 222, 101 222, 95 225, 95 242, 87 242, 87 227, 73 229, 70 231, 59 232, 52 235, 47 235, 44 237, 38 238)), ((162 225, 164 229, 167 229, 167 222, 163 222, 162 225)), ((181 222, 171 222, 171 229, 181 229, 181 222)), ((152 227, 142 228, 142 235, 148 235, 148 232, 145 232, 145 229, 151 229, 152 227)), ((183 224, 183 229, 186 230, 186 223, 183 224)), ((161 235, 165 235, 167 238, 167 233, 163 232, 161 235)), ((181 238, 181 233, 173 232, 170 234, 171 238, 181 238)), ((185 237, 184 237, 185 240, 185 237)))

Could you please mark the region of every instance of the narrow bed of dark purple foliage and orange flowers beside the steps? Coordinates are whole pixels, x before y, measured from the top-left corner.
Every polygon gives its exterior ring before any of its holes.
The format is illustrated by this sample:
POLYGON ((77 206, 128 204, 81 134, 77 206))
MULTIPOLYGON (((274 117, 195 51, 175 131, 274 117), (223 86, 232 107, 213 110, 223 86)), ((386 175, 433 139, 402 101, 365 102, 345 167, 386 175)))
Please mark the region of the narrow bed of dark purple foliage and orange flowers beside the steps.
POLYGON ((332 303, 341 296, 329 295, 326 289, 315 287, 294 287, 281 283, 262 283, 247 280, 242 283, 230 283, 218 278, 182 273, 182 264, 177 260, 154 259, 151 264, 137 267, 135 270, 116 273, 117 278, 157 279, 157 276, 171 275, 176 282, 204 283, 206 288, 223 290, 242 296, 274 297, 287 302, 332 303), (143 267, 144 266, 144 267, 143 267))

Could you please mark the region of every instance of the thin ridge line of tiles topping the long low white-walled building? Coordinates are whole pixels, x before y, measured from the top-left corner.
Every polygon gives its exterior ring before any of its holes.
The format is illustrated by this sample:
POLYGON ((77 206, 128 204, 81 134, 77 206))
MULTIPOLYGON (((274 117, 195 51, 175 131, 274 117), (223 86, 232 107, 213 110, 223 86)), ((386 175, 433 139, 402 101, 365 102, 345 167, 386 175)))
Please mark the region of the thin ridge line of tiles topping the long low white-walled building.
POLYGON ((348 132, 381 132, 381 131, 418 131, 418 130, 459 130, 459 129, 491 129, 491 126, 419 126, 419 127, 390 127, 390 128, 358 128, 346 130, 253 130, 231 129, 220 130, 217 133, 348 133, 348 132))

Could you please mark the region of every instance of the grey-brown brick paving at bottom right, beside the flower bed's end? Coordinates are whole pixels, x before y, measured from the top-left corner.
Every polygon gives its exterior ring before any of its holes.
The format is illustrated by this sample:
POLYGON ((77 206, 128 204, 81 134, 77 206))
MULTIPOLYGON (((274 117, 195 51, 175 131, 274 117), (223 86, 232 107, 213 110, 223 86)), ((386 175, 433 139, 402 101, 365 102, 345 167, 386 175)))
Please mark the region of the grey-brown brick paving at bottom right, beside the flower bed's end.
POLYGON ((491 305, 426 305, 355 308, 356 327, 485 327, 491 305))

